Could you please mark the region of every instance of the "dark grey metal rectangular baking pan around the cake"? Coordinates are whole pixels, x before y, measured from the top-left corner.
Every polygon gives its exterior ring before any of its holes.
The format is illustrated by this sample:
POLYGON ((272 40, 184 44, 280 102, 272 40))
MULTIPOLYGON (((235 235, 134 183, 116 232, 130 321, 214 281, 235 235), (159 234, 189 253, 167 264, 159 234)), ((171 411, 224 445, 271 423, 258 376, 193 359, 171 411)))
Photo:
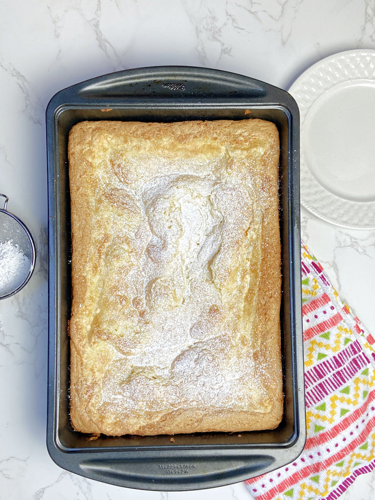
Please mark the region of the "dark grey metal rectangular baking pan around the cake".
POLYGON ((48 168, 47 448, 64 469, 153 490, 229 484, 293 461, 305 442, 299 230, 299 113, 285 91, 213 69, 119 71, 56 93, 46 110, 48 168), (67 136, 81 120, 183 121, 263 118, 280 135, 281 338, 284 415, 274 430, 170 436, 87 435, 69 421, 70 199, 67 136))

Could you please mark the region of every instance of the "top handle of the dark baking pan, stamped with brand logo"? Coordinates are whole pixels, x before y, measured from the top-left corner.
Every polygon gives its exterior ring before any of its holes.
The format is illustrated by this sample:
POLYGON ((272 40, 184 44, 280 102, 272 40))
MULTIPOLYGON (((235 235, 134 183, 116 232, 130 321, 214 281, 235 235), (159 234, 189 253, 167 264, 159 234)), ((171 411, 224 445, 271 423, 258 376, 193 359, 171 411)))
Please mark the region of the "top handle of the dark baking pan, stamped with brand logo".
MULTIPOLYGON (((119 97, 246 97, 257 101, 275 88, 268 83, 227 71, 189 66, 155 66, 126 69, 83 81, 77 95, 86 99, 119 97)), ((109 100, 108 100, 109 99, 109 100)))

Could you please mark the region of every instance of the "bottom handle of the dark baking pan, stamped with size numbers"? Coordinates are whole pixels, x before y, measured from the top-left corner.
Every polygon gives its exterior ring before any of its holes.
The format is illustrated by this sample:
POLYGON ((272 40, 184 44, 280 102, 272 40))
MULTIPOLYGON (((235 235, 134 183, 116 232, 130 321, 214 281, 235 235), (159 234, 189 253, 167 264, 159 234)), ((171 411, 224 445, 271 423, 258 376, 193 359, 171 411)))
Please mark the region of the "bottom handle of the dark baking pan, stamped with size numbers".
POLYGON ((141 489, 180 491, 233 483, 269 470, 274 457, 268 455, 216 456, 210 461, 197 457, 143 460, 87 460, 82 474, 99 481, 141 489))

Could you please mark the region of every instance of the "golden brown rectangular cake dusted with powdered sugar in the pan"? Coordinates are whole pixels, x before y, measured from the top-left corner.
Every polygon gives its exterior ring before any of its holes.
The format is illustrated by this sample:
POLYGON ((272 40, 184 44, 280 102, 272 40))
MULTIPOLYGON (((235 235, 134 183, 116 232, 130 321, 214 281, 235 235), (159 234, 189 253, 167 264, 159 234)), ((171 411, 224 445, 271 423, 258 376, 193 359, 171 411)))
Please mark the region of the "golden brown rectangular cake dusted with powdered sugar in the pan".
POLYGON ((278 155, 259 119, 72 127, 74 429, 278 425, 278 155))

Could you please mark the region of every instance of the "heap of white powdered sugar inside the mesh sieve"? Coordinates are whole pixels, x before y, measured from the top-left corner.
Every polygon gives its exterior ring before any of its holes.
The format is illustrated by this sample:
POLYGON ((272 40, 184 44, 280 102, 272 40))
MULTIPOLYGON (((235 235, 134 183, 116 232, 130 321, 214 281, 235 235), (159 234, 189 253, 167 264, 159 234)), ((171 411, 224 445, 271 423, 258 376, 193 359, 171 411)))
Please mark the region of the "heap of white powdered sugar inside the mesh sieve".
POLYGON ((31 261, 11 241, 0 243, 0 296, 12 292, 29 273, 31 261))

